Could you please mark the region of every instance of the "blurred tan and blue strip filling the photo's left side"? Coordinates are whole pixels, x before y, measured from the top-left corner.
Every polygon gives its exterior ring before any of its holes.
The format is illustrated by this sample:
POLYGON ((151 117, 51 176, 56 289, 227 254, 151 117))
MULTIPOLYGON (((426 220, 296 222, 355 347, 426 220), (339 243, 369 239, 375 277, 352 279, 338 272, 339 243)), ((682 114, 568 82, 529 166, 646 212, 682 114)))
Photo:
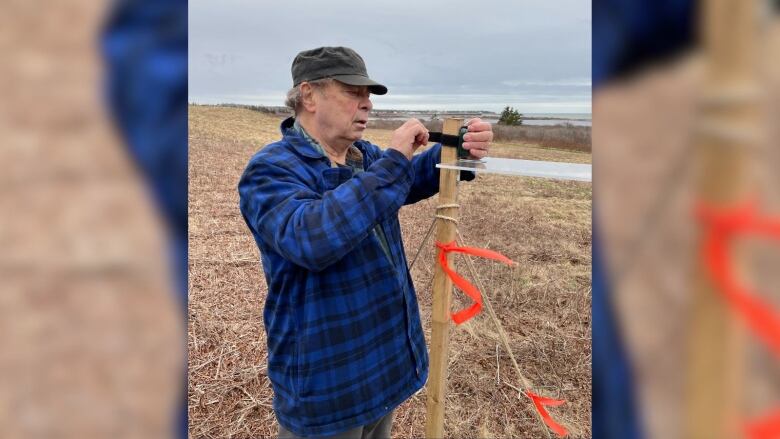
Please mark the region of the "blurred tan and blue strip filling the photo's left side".
POLYGON ((0 437, 184 432, 186 2, 3 2, 0 437))

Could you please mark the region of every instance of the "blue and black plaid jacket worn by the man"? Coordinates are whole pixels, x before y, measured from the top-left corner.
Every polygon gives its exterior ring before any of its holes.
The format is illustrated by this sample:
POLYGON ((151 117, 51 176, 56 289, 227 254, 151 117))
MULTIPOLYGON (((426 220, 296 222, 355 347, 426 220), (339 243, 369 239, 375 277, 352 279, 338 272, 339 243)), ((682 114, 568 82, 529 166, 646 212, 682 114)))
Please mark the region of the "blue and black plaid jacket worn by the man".
POLYGON ((353 175, 331 168, 293 121, 252 157, 238 191, 268 283, 274 411, 297 435, 331 435, 381 418, 427 379, 398 210, 438 191, 441 145, 409 161, 355 142, 365 171, 353 175))

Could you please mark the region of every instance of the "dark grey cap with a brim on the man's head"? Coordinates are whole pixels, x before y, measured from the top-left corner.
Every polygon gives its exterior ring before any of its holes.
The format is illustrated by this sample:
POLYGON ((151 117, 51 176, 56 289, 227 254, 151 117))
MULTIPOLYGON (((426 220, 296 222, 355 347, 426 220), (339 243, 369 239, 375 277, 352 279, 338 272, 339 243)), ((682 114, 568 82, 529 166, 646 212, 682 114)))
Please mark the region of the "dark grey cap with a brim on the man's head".
POLYGON ((333 78, 349 85, 365 85, 368 91, 383 95, 387 87, 372 80, 363 58, 349 47, 318 47, 304 50, 293 60, 293 87, 303 81, 333 78))

